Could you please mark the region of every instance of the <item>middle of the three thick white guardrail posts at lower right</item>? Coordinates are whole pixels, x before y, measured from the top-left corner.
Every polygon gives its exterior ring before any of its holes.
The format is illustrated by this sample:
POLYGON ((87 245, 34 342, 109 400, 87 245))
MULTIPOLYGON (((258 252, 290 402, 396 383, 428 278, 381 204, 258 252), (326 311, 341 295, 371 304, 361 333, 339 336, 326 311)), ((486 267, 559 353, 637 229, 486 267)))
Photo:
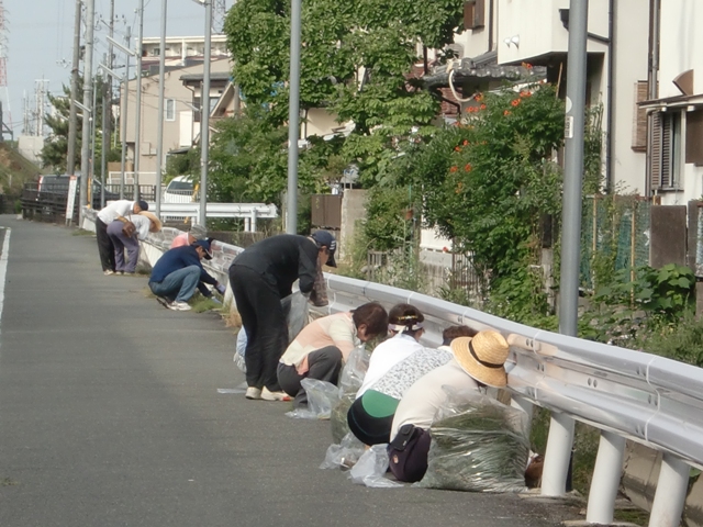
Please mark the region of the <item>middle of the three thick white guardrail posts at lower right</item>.
POLYGON ((612 431, 601 430, 585 513, 588 524, 610 525, 613 523, 615 497, 617 497, 620 478, 623 473, 624 452, 624 437, 612 431))

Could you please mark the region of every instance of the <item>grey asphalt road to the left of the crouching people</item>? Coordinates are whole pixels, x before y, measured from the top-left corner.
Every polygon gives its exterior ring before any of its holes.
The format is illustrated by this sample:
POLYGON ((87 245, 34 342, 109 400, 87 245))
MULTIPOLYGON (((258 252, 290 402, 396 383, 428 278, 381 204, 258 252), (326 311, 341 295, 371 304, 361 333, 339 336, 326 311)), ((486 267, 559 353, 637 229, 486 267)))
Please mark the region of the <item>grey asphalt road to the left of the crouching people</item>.
POLYGON ((3 237, 7 227, 0 526, 542 527, 578 518, 558 503, 367 489, 320 470, 328 423, 291 419, 287 403, 217 393, 244 377, 216 314, 164 310, 143 277, 104 277, 92 236, 0 216, 3 237))

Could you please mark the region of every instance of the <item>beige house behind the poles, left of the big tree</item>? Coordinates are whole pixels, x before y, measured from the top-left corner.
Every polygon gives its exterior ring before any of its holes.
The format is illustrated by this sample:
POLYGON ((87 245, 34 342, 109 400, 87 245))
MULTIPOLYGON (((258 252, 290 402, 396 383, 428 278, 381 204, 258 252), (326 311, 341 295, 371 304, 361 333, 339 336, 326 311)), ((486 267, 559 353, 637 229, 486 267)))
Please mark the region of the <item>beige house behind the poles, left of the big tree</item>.
MULTIPOLYGON (((232 64, 227 58, 213 60, 210 66, 210 109, 212 109, 230 81, 232 64)), ((200 134, 200 104, 203 64, 182 68, 169 68, 164 85, 164 143, 161 167, 170 152, 189 149, 200 134)), ((158 141, 158 75, 142 79, 142 115, 140 131, 140 182, 156 184, 156 149, 158 141)), ((127 157, 134 159, 136 130, 136 80, 127 88, 127 157)), ((124 89, 122 89, 124 97, 124 89)), ((111 179, 119 173, 111 172, 111 179)), ((127 179, 127 182, 132 182, 127 179)))

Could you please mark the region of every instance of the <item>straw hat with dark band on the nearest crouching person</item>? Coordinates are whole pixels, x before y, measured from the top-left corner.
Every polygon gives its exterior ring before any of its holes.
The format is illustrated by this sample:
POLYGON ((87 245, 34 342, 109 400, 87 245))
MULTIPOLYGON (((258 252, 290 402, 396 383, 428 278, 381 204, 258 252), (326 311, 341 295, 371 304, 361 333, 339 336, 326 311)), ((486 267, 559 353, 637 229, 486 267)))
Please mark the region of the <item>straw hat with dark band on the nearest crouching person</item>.
POLYGON ((471 337, 458 337, 451 340, 451 351, 469 375, 489 386, 503 388, 507 384, 505 360, 510 346, 503 336, 486 329, 471 337))

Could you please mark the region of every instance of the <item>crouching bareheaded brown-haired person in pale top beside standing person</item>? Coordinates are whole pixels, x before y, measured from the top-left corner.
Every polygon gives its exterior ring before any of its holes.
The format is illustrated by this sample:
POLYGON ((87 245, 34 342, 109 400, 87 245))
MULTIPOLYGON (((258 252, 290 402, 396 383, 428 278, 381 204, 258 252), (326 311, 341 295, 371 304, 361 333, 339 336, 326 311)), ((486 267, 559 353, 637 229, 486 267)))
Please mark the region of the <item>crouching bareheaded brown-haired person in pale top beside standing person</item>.
POLYGON ((337 384, 339 371, 352 350, 388 332, 388 313, 369 302, 347 313, 323 316, 303 327, 278 363, 278 383, 295 407, 308 404, 303 379, 337 384))

